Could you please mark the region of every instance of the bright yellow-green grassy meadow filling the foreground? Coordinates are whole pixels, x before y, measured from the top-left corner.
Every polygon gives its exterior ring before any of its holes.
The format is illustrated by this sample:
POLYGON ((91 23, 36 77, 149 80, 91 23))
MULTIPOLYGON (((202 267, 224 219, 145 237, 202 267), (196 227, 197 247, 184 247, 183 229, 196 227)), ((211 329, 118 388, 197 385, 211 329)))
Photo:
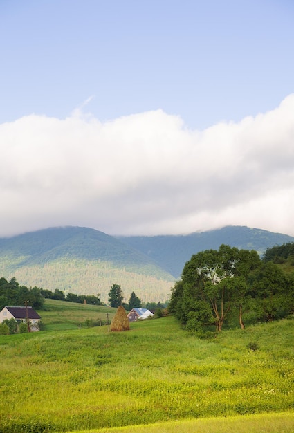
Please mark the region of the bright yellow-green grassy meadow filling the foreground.
POLYGON ((0 336, 1 433, 294 431, 293 319, 211 340, 174 317, 83 326, 114 312, 46 300, 45 331, 0 336))

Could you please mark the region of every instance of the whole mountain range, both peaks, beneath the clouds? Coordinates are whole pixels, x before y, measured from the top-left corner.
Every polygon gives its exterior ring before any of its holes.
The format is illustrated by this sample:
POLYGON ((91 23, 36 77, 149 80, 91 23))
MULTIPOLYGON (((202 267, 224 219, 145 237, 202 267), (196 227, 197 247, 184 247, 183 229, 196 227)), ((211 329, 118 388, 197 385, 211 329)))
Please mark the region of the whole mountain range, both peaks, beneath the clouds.
POLYGON ((66 293, 100 295, 107 302, 113 284, 129 300, 164 302, 185 262, 222 243, 254 249, 293 242, 286 234, 229 226, 183 236, 112 237, 91 228, 48 228, 0 238, 0 277, 66 293))

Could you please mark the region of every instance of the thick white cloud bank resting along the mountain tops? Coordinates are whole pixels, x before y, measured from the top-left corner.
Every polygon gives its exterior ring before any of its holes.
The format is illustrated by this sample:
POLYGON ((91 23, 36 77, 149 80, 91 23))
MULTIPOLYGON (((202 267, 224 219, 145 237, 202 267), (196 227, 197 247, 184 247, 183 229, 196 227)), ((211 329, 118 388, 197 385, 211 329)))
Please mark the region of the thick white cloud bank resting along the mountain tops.
MULTIPOLYGON (((91 98, 84 102, 87 104, 91 98)), ((204 131, 161 110, 0 125, 0 236, 54 225, 169 234, 248 225, 294 235, 294 95, 204 131)))

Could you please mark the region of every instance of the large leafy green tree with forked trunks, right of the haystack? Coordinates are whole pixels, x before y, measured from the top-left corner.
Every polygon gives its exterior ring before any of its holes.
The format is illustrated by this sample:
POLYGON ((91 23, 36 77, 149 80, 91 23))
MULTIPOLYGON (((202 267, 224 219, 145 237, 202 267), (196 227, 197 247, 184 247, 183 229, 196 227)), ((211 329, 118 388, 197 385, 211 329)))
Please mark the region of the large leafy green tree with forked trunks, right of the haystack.
POLYGON ((246 277, 260 264, 256 252, 221 245, 193 255, 183 269, 181 281, 172 291, 169 310, 187 329, 214 324, 221 331, 229 313, 239 306, 239 322, 244 328, 242 308, 248 294, 246 277))

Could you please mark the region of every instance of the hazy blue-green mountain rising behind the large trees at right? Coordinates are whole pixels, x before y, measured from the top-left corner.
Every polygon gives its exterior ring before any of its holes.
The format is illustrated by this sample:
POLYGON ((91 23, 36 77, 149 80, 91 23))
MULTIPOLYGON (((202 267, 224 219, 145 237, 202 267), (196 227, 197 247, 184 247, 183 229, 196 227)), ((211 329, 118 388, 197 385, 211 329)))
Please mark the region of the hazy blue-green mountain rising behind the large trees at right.
POLYGON ((185 235, 131 236, 120 239, 154 259, 176 279, 180 277, 186 261, 190 260, 193 254, 203 250, 218 250, 222 243, 239 249, 256 250, 262 255, 267 248, 294 241, 294 237, 287 234, 231 225, 185 235))

